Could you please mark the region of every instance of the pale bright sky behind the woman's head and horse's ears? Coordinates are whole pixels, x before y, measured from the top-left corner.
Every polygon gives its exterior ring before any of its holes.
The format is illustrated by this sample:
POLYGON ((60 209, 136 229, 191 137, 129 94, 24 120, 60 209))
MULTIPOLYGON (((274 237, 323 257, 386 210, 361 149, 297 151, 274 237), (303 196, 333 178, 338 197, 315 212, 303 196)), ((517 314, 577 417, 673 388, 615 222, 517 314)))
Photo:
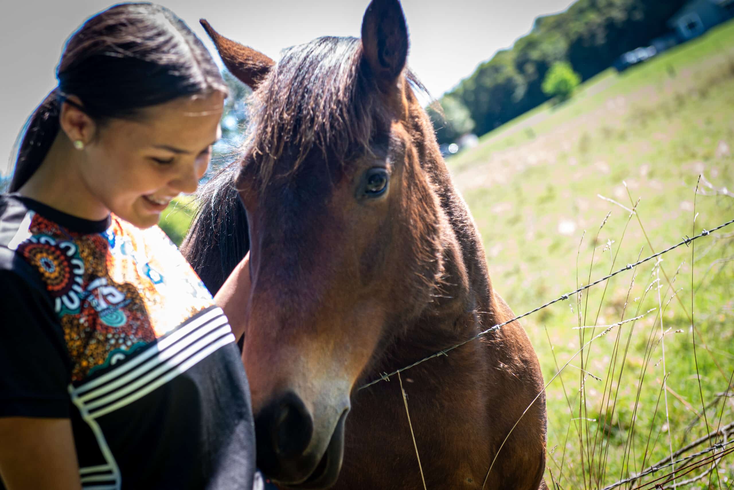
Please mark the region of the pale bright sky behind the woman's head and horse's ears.
MULTIPOLYGON (((20 0, 3 6, 0 29, 0 172, 27 117, 56 87, 65 40, 109 0, 20 0)), ((287 46, 324 35, 355 36, 367 0, 159 0, 215 54, 199 25, 273 59, 287 46)), ((565 10, 573 0, 402 0, 410 33, 408 64, 438 98, 495 51, 530 31, 534 18, 565 10)), ((14 158, 13 158, 14 159, 14 158)))

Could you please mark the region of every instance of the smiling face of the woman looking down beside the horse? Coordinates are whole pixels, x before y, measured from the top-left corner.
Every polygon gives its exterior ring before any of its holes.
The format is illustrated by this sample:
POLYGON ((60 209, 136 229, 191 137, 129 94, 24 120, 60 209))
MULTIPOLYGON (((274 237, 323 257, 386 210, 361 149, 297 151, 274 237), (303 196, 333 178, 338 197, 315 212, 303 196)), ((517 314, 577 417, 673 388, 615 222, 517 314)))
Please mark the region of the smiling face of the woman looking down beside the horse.
POLYGON ((109 120, 84 148, 84 186, 106 209, 145 228, 181 192, 196 190, 220 137, 224 95, 178 98, 141 110, 139 120, 109 120))

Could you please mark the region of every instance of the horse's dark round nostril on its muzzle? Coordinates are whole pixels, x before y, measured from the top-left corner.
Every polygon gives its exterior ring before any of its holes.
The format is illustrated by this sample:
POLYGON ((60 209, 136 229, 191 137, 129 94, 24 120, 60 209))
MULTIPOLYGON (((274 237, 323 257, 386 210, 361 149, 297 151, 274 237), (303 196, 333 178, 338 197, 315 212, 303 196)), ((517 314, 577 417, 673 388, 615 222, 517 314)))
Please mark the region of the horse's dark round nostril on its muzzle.
POLYGON ((297 396, 288 396, 280 404, 272 428, 275 451, 282 458, 300 456, 313 434, 313 420, 297 396))

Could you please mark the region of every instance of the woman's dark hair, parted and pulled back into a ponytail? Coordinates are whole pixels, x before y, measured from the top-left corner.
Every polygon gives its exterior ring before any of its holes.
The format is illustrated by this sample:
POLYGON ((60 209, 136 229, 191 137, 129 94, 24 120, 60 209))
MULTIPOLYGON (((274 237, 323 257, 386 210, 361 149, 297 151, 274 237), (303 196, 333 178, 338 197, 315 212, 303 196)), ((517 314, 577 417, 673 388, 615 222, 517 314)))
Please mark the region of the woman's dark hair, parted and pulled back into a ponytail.
MULTIPOLYGON (((95 122, 135 118, 139 109, 186 95, 228 93, 217 65, 173 12, 156 4, 119 4, 87 20, 65 45, 59 86, 37 107, 18 148, 10 191, 40 167, 71 95, 95 122)), ((77 105, 77 104, 73 104, 77 105)))

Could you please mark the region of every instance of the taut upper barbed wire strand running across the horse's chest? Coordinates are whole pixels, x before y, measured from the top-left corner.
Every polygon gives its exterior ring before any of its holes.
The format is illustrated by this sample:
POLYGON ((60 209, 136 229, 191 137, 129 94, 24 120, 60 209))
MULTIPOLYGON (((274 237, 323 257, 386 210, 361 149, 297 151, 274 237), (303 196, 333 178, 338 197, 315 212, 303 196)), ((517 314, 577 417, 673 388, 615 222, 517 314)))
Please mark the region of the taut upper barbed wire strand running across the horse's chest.
POLYGON ((364 390, 365 388, 371 387, 373 384, 377 384, 380 381, 390 381, 390 376, 395 376, 398 373, 402 373, 403 371, 409 370, 411 367, 415 367, 415 366, 417 366, 419 364, 423 364, 424 362, 426 362, 426 361, 428 361, 430 359, 434 359, 435 357, 448 356, 447 353, 449 351, 453 351, 455 348, 459 348, 462 345, 465 345, 465 344, 468 344, 468 343, 472 342, 473 340, 477 340, 477 339, 479 339, 481 337, 484 337, 484 335, 486 335, 486 334, 488 334, 490 332, 494 332, 495 330, 499 330, 503 326, 507 325, 508 323, 512 323, 513 321, 520 320, 520 318, 524 318, 524 317, 526 317, 528 315, 532 315, 534 312, 537 312, 539 310, 542 310, 543 308, 547 308, 547 307, 551 306, 551 304, 557 303, 558 301, 564 301, 566 299, 569 299, 574 294, 581 293, 581 291, 586 290, 586 289, 589 289, 592 286, 595 286, 595 285, 599 284, 600 282, 604 282, 607 279, 616 276, 620 272, 631 271, 633 268, 639 266, 640 264, 645 263, 648 260, 652 260, 655 257, 660 257, 661 255, 664 255, 664 254, 670 252, 673 249, 677 249, 677 247, 679 247, 681 245, 688 246, 688 244, 690 244, 692 241, 697 240, 698 238, 701 238, 703 236, 709 236, 709 235, 711 235, 711 233, 713 233, 713 232, 715 232, 717 230, 721 230, 723 227, 726 227, 726 226, 728 226, 728 225, 730 225, 732 223, 734 223, 734 219, 731 219, 730 221, 725 222, 723 224, 719 224, 719 226, 717 226, 715 228, 712 228, 711 230, 702 230, 701 233, 699 233, 698 235, 695 235, 692 238, 688 238, 688 236, 685 235, 685 236, 683 236, 683 241, 680 241, 679 243, 677 243, 675 245, 669 246, 668 248, 662 250, 661 252, 658 252, 656 254, 650 255, 650 257, 646 257, 646 258, 644 258, 642 260, 638 260, 635 263, 629 263, 629 264, 627 264, 627 266, 625 266, 623 268, 620 268, 618 271, 614 271, 611 274, 608 274, 607 276, 602 277, 601 279, 597 279, 595 282, 592 282, 591 284, 582 286, 581 288, 578 288, 577 290, 573 290, 570 293, 562 294, 558 298, 553 299, 553 301, 548 301, 548 303, 542 304, 541 306, 535 308, 534 310, 530 310, 530 311, 528 311, 526 313, 523 313, 522 315, 517 315, 515 318, 512 318, 512 319, 510 319, 508 321, 504 321, 504 322, 498 323, 498 324, 496 324, 494 326, 490 326, 490 328, 488 328, 488 329, 486 329, 486 330, 484 330, 482 332, 479 332, 478 334, 474 335, 473 337, 470 337, 468 340, 465 340, 465 341, 463 341, 461 343, 457 343, 455 345, 451 345, 451 347, 448 347, 448 348, 442 349, 440 351, 437 351, 434 354, 431 354, 430 356, 426 356, 426 357, 424 357, 423 359, 421 359, 419 361, 413 362, 413 364, 411 364, 411 365, 407 365, 405 367, 401 367, 400 369, 394 370, 392 373, 382 373, 382 374, 379 375, 379 378, 374 379, 374 380, 368 382, 367 384, 363 384, 359 389, 360 390, 364 390))

